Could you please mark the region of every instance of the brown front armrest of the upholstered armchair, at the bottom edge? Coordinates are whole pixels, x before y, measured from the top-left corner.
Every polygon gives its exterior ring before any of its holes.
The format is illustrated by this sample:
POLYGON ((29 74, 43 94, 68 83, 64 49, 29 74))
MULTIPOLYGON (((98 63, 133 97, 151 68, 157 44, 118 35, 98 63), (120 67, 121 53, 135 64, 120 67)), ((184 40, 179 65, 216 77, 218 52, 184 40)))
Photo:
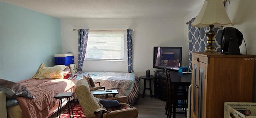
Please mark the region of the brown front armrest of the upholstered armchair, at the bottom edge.
POLYGON ((138 118, 137 108, 127 108, 103 114, 103 118, 138 118))

